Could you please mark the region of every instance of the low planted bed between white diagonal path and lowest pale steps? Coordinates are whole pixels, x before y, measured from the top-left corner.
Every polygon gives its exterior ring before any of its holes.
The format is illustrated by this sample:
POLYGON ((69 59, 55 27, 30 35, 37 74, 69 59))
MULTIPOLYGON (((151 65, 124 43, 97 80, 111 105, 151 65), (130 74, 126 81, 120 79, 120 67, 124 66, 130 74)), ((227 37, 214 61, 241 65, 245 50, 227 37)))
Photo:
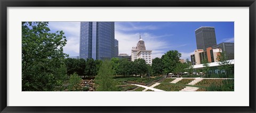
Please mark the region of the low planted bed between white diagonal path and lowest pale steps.
POLYGON ((186 86, 181 86, 181 85, 173 85, 173 84, 159 84, 155 86, 154 88, 159 89, 159 90, 164 90, 164 91, 180 91, 186 86))

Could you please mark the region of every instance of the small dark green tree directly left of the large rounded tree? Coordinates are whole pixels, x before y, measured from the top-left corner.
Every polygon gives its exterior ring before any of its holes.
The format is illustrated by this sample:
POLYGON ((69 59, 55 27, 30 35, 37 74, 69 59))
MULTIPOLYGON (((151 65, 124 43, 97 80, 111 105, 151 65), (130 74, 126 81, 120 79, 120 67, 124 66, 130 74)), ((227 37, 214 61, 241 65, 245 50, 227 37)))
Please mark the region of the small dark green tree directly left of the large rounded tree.
POLYGON ((163 63, 162 63, 161 58, 156 57, 155 59, 153 59, 152 69, 153 69, 154 74, 157 74, 158 76, 160 74, 162 74, 162 72, 163 72, 163 63))

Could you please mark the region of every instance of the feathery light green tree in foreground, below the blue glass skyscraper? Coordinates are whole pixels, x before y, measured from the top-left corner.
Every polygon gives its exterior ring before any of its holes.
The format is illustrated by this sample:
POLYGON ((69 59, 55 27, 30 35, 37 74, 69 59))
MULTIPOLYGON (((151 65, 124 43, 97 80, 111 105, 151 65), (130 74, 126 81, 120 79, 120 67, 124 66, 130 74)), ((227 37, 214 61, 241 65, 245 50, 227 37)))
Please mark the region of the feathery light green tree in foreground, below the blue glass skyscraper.
POLYGON ((97 76, 95 76, 97 91, 117 91, 117 83, 113 79, 111 62, 104 60, 97 76))

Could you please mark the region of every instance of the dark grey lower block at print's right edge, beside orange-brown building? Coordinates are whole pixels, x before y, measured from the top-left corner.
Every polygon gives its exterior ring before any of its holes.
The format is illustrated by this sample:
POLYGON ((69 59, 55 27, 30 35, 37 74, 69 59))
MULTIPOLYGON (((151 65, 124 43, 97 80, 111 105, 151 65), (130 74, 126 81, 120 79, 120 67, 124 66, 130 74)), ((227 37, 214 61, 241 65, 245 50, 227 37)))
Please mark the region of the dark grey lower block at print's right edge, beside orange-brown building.
POLYGON ((212 48, 221 48, 222 51, 225 51, 227 60, 235 59, 234 55, 234 43, 231 42, 222 42, 221 44, 215 45, 212 48))

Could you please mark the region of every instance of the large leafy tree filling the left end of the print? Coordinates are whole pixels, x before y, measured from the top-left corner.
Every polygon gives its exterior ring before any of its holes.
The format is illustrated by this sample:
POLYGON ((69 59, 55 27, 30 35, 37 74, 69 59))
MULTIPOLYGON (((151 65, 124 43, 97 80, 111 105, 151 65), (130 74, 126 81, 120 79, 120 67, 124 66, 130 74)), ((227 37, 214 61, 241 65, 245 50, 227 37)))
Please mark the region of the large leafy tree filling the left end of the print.
POLYGON ((22 22, 22 91, 53 91, 61 78, 67 40, 63 31, 52 33, 47 24, 22 22))

